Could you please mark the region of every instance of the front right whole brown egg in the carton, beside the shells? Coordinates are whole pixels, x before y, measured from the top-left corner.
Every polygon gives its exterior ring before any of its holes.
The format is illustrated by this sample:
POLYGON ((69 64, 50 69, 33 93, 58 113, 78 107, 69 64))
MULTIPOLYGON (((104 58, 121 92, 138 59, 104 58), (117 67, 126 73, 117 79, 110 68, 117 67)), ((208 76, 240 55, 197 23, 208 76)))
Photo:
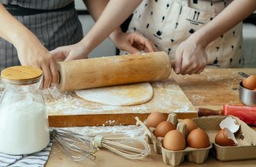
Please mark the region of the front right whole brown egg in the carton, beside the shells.
POLYGON ((210 139, 208 134, 200 128, 194 129, 187 136, 187 146, 195 149, 209 147, 210 139))

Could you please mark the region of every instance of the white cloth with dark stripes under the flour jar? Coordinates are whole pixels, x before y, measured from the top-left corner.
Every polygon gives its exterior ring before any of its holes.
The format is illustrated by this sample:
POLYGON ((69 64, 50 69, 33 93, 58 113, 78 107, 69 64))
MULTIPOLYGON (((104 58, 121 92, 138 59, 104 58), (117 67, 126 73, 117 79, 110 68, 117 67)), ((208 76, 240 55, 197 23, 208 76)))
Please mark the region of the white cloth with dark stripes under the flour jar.
POLYGON ((50 151, 53 146, 53 138, 50 139, 50 143, 46 148, 37 153, 32 153, 29 155, 21 155, 21 156, 11 156, 8 154, 0 153, 0 166, 12 166, 12 167, 20 167, 20 166, 28 166, 28 167, 42 167, 46 164, 50 151))

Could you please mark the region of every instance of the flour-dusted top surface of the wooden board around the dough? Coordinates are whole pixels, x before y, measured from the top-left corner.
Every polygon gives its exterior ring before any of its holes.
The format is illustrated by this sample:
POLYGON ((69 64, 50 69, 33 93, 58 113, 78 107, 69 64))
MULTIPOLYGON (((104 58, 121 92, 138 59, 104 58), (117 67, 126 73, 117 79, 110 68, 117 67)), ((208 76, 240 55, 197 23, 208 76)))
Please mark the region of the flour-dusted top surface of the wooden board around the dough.
POLYGON ((73 92, 60 93, 56 87, 43 90, 48 115, 86 115, 149 112, 197 112, 174 80, 151 83, 149 102, 134 106, 108 106, 79 98, 73 92))

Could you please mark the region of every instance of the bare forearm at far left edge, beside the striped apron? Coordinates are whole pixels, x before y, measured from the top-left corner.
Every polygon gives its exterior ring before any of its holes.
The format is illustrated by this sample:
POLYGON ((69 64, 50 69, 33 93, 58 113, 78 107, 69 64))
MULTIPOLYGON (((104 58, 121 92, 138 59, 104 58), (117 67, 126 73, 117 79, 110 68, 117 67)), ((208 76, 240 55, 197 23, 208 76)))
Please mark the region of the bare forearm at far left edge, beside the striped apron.
POLYGON ((0 3, 0 37, 12 43, 15 47, 21 45, 20 39, 30 39, 34 34, 16 20, 0 3))

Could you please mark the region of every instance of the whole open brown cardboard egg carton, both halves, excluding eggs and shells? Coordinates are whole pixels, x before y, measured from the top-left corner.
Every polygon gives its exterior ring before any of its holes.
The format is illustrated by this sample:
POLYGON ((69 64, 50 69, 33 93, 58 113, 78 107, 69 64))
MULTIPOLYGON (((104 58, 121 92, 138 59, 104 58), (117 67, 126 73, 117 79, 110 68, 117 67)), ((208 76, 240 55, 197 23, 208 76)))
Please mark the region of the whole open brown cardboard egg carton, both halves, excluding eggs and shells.
MULTIPOLYGON (((168 116, 167 121, 171 121, 174 125, 177 125, 178 131, 187 136, 187 126, 178 120, 175 123, 176 116, 171 113, 168 116)), ((155 128, 147 128, 146 125, 136 118, 137 124, 141 125, 147 135, 149 143, 153 143, 156 153, 162 153, 163 160, 166 164, 179 165, 184 161, 184 156, 187 155, 189 162, 203 163, 209 153, 210 147, 205 149, 193 149, 186 147, 185 150, 171 151, 162 147, 162 137, 155 137, 155 128)), ((232 161, 232 160, 244 160, 244 159, 256 159, 256 131, 251 129, 244 121, 233 116, 208 116, 201 118, 192 118, 197 123, 197 126, 208 134, 210 137, 210 143, 213 143, 213 147, 216 151, 216 158, 220 161, 232 161), (240 129, 235 133, 235 139, 238 141, 238 145, 235 147, 221 147, 215 143, 216 134, 219 132, 219 123, 226 117, 232 117, 240 124, 240 129)))

